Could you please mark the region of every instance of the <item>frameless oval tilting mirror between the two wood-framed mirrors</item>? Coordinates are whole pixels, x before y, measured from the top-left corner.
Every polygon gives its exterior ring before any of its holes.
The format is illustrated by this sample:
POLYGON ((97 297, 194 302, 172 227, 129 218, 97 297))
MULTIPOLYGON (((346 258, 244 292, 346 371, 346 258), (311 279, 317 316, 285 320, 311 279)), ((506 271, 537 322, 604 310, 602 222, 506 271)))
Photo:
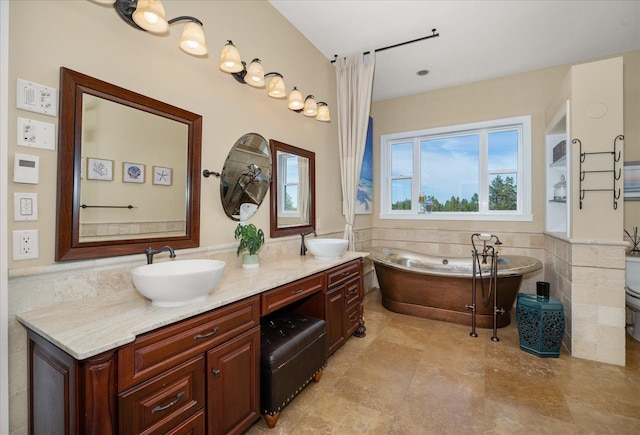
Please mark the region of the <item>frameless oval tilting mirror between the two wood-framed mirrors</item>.
POLYGON ((269 143, 256 133, 238 139, 222 168, 220 199, 227 216, 245 221, 258 211, 269 190, 271 153, 269 143))

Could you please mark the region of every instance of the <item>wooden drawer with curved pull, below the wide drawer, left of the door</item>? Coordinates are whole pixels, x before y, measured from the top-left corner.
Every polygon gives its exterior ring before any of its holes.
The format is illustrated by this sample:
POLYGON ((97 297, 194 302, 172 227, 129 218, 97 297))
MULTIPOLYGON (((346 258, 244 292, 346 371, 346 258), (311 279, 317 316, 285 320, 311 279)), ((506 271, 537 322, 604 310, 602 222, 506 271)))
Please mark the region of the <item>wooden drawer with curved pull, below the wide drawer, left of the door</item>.
POLYGON ((166 433, 205 404, 204 355, 120 394, 120 433, 166 433))

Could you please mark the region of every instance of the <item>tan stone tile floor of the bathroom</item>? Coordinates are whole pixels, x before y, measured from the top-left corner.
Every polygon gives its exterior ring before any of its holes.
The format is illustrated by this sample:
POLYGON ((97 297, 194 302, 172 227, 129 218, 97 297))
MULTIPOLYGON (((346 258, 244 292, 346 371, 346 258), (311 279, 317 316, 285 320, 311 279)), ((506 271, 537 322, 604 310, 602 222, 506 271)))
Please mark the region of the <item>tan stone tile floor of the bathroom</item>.
POLYGON ((248 434, 639 434, 640 343, 627 366, 538 358, 519 348, 515 318, 498 330, 385 310, 365 296, 367 335, 329 358, 318 384, 284 409, 274 429, 248 434))

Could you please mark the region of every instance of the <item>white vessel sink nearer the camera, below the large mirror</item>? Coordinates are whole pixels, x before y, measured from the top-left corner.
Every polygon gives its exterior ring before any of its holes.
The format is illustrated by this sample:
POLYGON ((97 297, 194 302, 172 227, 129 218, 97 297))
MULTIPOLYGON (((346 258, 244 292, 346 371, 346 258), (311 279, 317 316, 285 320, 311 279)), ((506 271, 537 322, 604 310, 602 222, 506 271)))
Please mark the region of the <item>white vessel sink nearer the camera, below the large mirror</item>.
POLYGON ((218 285, 225 262, 174 260, 131 271, 133 285, 157 307, 180 307, 204 301, 218 285))

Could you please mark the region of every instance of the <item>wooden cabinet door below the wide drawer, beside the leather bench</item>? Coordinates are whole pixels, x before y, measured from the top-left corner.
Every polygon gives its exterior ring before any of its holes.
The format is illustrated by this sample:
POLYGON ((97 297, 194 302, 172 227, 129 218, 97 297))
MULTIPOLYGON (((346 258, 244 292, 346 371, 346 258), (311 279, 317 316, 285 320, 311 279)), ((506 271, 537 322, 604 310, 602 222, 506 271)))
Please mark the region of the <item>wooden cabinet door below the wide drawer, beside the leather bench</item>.
POLYGON ((242 433, 259 417, 260 328, 207 352, 209 434, 242 433))

